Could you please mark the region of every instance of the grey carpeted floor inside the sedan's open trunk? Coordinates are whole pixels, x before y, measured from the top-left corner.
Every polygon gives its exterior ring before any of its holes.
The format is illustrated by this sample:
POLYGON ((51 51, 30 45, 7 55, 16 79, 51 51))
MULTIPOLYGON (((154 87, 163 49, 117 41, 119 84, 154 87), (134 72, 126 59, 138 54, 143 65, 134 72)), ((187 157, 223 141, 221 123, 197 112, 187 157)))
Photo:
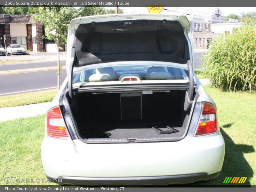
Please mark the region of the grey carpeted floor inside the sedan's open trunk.
POLYGON ((185 131, 185 127, 178 123, 168 123, 164 121, 145 121, 145 120, 123 120, 115 122, 100 122, 94 124, 83 124, 84 129, 80 130, 80 134, 84 139, 91 138, 113 138, 113 139, 138 139, 138 138, 159 138, 168 139, 173 137, 181 137, 185 131), (158 134, 149 124, 163 123, 179 132, 170 134, 158 134), (175 125, 175 127, 174 127, 175 125), (180 125, 180 126, 179 126, 180 125))

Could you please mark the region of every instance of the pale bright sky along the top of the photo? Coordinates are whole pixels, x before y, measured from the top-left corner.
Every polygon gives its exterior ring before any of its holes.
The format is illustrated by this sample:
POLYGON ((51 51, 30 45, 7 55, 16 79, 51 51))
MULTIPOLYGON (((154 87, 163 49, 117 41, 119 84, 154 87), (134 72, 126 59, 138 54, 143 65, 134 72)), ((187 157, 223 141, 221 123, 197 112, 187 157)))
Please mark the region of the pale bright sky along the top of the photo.
MULTIPOLYGON (((115 7, 111 7, 115 9, 115 7)), ((124 13, 148 13, 146 7, 120 7, 124 10, 124 13)), ((167 8, 167 7, 166 7, 167 8)), ((240 15, 242 12, 256 12, 256 7, 219 7, 220 11, 223 13, 224 16, 228 16, 230 13, 234 13, 240 15)), ((171 10, 178 10, 177 7, 168 7, 171 10)), ((189 10, 194 12, 202 12, 206 14, 212 14, 217 9, 217 7, 179 7, 180 12, 186 12, 189 10)), ((168 14, 168 12, 162 10, 162 14, 168 14)), ((173 13, 176 14, 176 13, 173 13)))

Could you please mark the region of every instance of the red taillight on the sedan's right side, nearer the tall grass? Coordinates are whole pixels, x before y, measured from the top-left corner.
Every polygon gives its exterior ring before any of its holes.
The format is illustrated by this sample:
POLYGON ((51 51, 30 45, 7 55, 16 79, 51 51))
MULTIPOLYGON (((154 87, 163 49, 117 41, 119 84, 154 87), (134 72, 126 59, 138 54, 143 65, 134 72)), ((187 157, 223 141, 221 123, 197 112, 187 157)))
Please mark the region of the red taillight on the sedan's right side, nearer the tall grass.
POLYGON ((196 130, 196 135, 205 135, 219 131, 216 108, 211 104, 204 103, 203 112, 196 130))

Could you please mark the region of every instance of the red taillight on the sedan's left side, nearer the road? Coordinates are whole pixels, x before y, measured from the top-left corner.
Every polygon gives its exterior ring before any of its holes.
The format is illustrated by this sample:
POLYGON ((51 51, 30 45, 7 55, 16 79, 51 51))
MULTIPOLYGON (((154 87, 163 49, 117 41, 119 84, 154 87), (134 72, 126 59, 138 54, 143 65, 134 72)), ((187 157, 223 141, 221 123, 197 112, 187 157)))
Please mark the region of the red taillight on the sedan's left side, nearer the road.
POLYGON ((52 108, 47 112, 46 135, 52 138, 69 139, 69 134, 59 107, 52 108))

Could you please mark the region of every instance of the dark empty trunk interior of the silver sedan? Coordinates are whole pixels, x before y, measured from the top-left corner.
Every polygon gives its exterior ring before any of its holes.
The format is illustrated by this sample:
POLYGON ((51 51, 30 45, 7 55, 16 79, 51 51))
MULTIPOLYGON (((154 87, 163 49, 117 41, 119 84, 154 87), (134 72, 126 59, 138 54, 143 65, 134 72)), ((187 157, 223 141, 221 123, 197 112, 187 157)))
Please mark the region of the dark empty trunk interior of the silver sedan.
POLYGON ((79 93, 70 107, 85 141, 179 140, 191 102, 187 91, 79 93))

